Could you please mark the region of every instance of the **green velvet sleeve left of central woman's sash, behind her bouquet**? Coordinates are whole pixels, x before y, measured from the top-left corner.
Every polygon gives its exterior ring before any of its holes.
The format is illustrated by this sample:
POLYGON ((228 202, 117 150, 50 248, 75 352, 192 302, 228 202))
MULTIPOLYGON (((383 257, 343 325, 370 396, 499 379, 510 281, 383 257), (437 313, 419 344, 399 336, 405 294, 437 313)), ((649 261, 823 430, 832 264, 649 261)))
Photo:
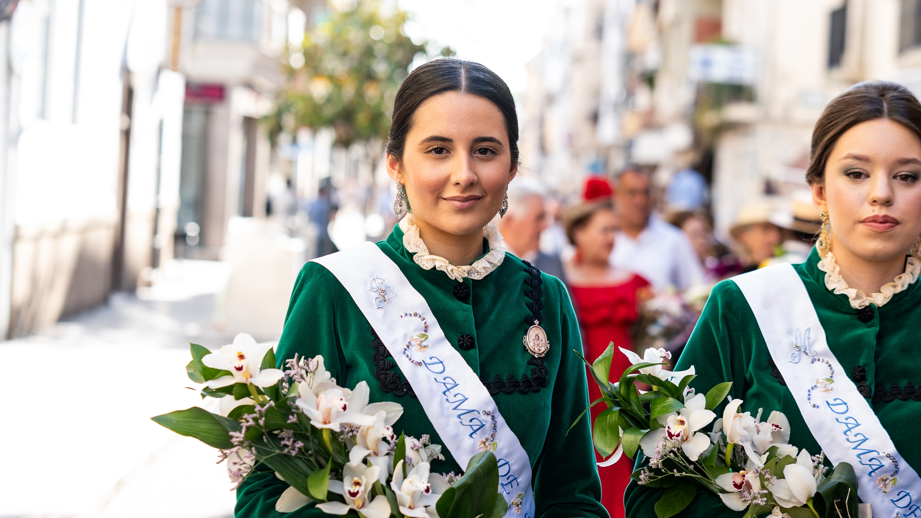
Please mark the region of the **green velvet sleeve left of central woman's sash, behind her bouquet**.
MULTIPOLYGON (((339 282, 317 263, 309 262, 300 271, 291 294, 291 302, 285 319, 285 329, 278 342, 275 357, 278 367, 284 368, 286 358, 295 351, 310 351, 310 355, 322 354, 326 370, 332 377, 343 379, 344 359, 339 351, 336 337, 336 305, 342 298, 336 292, 339 282)), ((351 300, 349 300, 351 302, 351 300)), ((288 488, 274 473, 256 473, 247 478, 237 489, 236 518, 319 518, 330 516, 316 509, 314 503, 295 512, 275 511, 275 501, 288 488)))

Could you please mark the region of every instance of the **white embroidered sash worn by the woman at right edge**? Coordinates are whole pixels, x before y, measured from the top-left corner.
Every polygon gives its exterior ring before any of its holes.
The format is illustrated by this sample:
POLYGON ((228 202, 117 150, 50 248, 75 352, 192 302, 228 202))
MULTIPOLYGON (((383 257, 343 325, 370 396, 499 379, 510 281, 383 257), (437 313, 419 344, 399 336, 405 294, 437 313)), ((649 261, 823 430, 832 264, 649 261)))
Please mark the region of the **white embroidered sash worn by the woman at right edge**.
POLYGON ((752 307, 771 358, 813 437, 833 464, 854 466, 860 500, 872 504, 877 518, 921 517, 921 479, 895 450, 889 433, 829 350, 793 266, 778 264, 731 281, 752 307))

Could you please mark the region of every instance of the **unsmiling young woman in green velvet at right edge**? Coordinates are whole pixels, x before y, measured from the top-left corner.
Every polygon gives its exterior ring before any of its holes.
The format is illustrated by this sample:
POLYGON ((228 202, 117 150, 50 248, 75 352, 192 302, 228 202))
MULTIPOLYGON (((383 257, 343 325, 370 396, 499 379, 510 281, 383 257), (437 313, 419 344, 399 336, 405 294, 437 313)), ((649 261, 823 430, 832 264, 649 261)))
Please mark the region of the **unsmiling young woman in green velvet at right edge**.
MULTIPOLYGON (((919 178, 921 104, 904 86, 861 83, 835 98, 806 177, 822 212, 817 247, 804 263, 718 283, 676 366, 694 365, 698 393, 730 381, 752 416, 786 414, 789 443, 854 466, 878 517, 921 516, 919 178)), ((656 516, 660 490, 632 482, 627 516, 656 516)), ((700 490, 678 516, 742 513, 700 490)))

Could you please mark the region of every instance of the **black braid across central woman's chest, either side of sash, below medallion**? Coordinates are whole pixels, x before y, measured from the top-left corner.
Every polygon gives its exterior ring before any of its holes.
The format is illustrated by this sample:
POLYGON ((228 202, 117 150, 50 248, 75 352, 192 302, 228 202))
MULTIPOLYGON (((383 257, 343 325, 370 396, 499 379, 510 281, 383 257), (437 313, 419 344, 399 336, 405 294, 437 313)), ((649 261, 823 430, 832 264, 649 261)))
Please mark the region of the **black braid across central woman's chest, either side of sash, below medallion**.
MULTIPOLYGON (((380 341, 374 328, 371 328, 371 334, 374 335, 374 340, 371 340, 371 348, 374 349, 374 354, 371 356, 374 360, 374 377, 378 378, 380 389, 384 392, 392 392, 395 396, 402 397, 409 394, 412 397, 417 397, 413 386, 402 379, 400 373, 391 371, 393 367, 396 367, 396 363, 388 359, 391 352, 387 350, 384 342, 380 341)), ((499 374, 495 374, 492 383, 488 383, 484 376, 480 377, 480 382, 493 396, 499 392, 504 394, 538 392, 544 386, 547 386, 547 367, 543 364, 541 358, 531 358, 528 363, 533 365, 530 369, 530 378, 528 374, 521 374, 519 381, 512 374, 508 374, 507 381, 502 381, 499 374)))

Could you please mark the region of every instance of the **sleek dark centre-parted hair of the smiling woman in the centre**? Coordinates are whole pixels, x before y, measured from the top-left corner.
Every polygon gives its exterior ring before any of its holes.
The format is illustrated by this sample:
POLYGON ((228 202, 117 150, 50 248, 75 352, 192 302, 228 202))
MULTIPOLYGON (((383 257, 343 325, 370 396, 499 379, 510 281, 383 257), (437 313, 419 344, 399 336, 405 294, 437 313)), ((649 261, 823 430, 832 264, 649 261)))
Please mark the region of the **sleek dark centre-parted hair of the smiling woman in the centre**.
POLYGON ((403 80, 397 97, 393 99, 387 154, 402 159, 406 135, 413 127, 415 110, 428 98, 446 92, 471 94, 495 104, 506 121, 511 164, 513 167, 518 166, 518 114, 515 111, 515 99, 506 82, 480 63, 455 58, 438 58, 422 64, 403 80))

